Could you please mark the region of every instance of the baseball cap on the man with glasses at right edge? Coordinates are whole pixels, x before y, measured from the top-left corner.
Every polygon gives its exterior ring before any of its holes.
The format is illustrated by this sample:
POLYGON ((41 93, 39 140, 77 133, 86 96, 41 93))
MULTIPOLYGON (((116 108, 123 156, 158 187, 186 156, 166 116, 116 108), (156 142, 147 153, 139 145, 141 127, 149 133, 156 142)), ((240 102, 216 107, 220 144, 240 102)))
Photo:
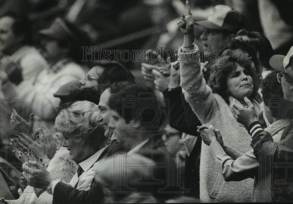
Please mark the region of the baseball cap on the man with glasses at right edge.
MULTIPOLYGON (((293 46, 290 48, 287 55, 273 55, 270 59, 272 68, 287 73, 286 68, 292 67, 293 69, 293 46)), ((290 74, 289 74, 290 75, 290 74)))

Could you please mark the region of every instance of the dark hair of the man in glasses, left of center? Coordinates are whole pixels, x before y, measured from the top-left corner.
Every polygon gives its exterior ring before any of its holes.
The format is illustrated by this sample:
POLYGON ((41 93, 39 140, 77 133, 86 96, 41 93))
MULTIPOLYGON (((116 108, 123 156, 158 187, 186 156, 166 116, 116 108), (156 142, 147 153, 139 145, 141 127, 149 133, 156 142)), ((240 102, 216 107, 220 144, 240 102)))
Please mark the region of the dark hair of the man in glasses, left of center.
POLYGON ((133 74, 118 62, 95 62, 94 66, 104 68, 103 73, 98 79, 98 84, 112 84, 116 81, 134 81, 133 74))

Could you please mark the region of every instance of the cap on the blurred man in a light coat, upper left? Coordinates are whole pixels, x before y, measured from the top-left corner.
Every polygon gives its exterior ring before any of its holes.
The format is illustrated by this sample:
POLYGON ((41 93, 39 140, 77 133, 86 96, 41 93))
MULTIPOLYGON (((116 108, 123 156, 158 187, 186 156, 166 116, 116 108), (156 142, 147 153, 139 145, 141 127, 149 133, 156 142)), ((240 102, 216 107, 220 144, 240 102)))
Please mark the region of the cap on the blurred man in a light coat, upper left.
POLYGON ((77 38, 76 35, 74 35, 74 33, 70 30, 70 28, 68 28, 64 20, 60 17, 57 17, 49 28, 40 30, 39 34, 57 40, 77 38))

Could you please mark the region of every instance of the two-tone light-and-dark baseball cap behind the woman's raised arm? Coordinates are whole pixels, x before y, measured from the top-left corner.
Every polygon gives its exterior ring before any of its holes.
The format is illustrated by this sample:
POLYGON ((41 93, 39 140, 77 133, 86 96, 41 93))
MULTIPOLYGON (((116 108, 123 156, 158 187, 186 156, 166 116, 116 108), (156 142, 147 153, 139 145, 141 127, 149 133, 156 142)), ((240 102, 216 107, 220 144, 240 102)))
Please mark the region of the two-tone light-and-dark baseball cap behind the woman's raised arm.
POLYGON ((243 26, 243 15, 227 5, 216 5, 205 21, 196 21, 204 28, 237 32, 243 26))

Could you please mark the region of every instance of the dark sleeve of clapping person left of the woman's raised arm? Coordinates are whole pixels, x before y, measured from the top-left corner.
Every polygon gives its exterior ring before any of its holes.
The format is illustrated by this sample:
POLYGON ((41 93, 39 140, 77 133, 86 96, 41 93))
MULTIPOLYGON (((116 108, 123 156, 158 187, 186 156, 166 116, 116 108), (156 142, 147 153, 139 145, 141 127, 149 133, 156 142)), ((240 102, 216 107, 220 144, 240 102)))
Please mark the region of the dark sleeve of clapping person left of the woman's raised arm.
POLYGON ((181 87, 177 87, 175 89, 172 89, 171 91, 168 91, 168 89, 163 91, 165 99, 168 99, 170 103, 170 126, 175 128, 176 130, 195 136, 196 126, 194 128, 194 124, 197 124, 197 117, 186 101, 186 104, 183 104, 183 101, 181 100, 181 94, 181 87), (188 113, 188 118, 186 118, 186 112, 188 113), (193 121, 189 121, 188 123, 187 119, 193 119, 193 121))

